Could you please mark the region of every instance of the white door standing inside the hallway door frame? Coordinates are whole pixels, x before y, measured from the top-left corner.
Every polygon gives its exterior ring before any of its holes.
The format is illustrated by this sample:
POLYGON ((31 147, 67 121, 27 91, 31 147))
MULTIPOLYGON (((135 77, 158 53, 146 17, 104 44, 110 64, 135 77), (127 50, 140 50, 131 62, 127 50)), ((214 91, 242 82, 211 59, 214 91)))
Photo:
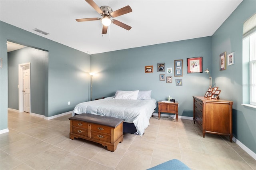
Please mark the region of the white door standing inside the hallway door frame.
POLYGON ((24 68, 24 112, 30 113, 30 68, 24 68))

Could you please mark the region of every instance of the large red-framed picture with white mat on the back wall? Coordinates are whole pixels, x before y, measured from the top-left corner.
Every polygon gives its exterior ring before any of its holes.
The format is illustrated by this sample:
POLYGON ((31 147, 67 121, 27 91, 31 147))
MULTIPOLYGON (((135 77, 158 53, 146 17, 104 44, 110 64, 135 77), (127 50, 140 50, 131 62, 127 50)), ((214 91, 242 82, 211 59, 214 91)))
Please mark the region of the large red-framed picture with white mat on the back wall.
POLYGON ((187 73, 202 73, 203 57, 187 58, 187 73))

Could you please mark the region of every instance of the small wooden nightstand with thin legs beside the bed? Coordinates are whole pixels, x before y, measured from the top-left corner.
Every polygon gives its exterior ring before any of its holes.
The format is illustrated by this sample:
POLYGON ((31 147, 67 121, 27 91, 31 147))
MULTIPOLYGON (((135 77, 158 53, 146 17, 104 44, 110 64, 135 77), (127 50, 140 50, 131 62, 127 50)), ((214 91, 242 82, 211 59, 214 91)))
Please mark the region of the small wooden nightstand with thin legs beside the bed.
POLYGON ((174 113, 176 115, 176 122, 178 122, 178 102, 165 103, 158 101, 158 119, 160 119, 161 112, 164 113, 174 113))

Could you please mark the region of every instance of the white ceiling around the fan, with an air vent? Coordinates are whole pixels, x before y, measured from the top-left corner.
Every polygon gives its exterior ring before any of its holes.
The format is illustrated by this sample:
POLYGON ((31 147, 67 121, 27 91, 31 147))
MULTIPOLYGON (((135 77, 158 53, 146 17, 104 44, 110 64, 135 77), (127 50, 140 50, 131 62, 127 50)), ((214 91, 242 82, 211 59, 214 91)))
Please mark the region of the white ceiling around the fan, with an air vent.
MULTIPOLYGON (((0 0, 0 20, 39 36, 94 54, 212 36, 242 0, 95 0, 113 11, 129 5, 132 12, 115 19, 102 36, 100 15, 85 0, 0 0), (35 32, 38 28, 50 33, 35 32)), ((32 44, 31 44, 32 45, 32 44)))

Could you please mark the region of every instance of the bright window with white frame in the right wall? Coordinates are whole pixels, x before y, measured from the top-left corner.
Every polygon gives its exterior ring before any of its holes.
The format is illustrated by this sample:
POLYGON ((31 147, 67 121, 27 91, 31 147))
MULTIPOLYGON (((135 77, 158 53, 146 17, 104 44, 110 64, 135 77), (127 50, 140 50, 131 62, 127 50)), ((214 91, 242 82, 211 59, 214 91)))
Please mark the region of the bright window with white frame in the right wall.
POLYGON ((256 108, 256 14, 243 26, 243 71, 243 85, 249 87, 243 90, 243 93, 249 93, 248 97, 243 94, 243 103, 256 108))

